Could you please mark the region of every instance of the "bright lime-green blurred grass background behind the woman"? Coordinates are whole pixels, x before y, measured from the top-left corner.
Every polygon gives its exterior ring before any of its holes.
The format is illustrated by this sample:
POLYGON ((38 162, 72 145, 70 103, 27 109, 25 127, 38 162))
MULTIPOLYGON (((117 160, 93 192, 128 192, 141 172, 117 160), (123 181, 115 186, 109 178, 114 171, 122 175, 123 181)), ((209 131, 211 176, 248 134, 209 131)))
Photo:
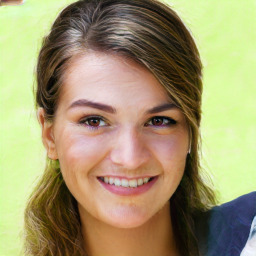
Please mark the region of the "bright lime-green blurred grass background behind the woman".
MULTIPOLYGON (((33 109, 41 39, 70 0, 0 7, 0 256, 20 255, 23 209, 45 151, 33 109)), ((166 1, 204 63, 203 165, 220 202, 256 190, 256 2, 166 1)))

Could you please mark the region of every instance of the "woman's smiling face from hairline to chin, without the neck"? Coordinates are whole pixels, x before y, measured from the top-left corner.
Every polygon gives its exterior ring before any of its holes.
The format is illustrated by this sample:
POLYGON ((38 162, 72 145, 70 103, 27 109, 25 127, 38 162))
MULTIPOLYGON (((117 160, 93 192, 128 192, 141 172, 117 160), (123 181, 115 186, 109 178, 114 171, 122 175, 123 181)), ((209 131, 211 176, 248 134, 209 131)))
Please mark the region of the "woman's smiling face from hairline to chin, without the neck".
POLYGON ((162 209, 184 173, 189 147, 182 112, 144 67, 90 52, 65 73, 51 127, 80 214, 137 227, 162 209))

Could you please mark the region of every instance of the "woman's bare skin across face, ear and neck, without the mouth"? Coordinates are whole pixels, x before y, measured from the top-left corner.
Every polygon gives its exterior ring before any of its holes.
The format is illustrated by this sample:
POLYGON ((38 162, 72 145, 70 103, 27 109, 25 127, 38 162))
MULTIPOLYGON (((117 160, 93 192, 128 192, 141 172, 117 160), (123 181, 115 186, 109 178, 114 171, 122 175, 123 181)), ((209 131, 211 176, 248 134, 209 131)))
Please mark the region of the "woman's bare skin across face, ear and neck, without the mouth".
POLYGON ((65 73, 54 121, 47 122, 39 110, 48 157, 59 159, 64 181, 78 202, 90 255, 178 255, 169 199, 184 173, 188 127, 177 107, 147 113, 169 103, 145 67, 88 52, 74 58, 65 73), (85 99, 115 112, 86 106, 81 103, 85 99), (157 180, 142 194, 122 196, 97 179, 110 175, 157 180))

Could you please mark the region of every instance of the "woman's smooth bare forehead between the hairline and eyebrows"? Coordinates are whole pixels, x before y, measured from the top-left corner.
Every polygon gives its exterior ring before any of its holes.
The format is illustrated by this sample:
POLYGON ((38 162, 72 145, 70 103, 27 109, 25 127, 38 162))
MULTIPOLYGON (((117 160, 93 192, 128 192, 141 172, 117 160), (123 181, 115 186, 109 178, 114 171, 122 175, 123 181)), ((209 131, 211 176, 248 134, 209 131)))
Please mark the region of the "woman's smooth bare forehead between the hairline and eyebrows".
POLYGON ((147 68, 124 57, 98 52, 71 60, 64 75, 61 98, 66 102, 86 98, 113 104, 170 101, 147 68))

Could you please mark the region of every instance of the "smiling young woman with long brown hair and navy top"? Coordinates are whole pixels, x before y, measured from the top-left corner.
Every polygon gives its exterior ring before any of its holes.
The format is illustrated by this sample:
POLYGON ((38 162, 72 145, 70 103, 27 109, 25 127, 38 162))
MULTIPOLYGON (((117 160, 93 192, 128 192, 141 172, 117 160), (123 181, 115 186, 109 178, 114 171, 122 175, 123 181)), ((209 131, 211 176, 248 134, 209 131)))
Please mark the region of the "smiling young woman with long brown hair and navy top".
MULTIPOLYGON (((26 255, 239 255, 214 254, 225 223, 200 175, 201 77, 192 36, 161 2, 61 12, 38 58, 48 161, 25 211, 26 255)), ((239 252, 255 212, 248 203, 239 252)))

